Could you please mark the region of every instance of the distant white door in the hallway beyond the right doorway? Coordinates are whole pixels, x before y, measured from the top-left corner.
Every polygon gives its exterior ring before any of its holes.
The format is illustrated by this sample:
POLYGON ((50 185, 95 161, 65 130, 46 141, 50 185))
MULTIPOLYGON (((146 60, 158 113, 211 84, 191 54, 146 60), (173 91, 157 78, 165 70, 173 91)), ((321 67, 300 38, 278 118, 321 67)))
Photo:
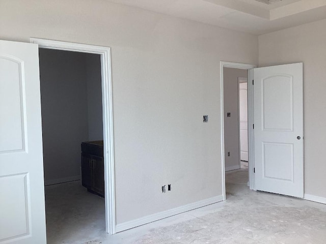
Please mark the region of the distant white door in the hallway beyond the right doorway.
POLYGON ((248 99, 247 78, 238 78, 239 82, 239 130, 240 160, 248 161, 248 99))

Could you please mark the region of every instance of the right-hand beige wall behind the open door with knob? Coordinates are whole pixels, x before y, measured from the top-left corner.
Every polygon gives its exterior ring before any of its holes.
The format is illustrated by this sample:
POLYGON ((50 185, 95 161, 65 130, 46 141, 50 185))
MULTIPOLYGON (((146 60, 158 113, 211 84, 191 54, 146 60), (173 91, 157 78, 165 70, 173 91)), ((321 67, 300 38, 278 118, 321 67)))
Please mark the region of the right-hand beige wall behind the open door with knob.
POLYGON ((326 19, 259 36, 259 66, 304 63, 305 194, 326 202, 326 19), (319 199, 321 200, 321 199, 319 199))

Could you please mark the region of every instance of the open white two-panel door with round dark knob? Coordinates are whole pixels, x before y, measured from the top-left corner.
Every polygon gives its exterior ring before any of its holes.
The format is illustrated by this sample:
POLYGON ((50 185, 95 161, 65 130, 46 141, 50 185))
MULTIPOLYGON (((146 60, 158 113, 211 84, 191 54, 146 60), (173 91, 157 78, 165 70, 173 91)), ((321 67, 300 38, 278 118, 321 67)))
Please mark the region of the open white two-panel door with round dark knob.
POLYGON ((256 190, 304 197, 303 64, 254 69, 256 190))

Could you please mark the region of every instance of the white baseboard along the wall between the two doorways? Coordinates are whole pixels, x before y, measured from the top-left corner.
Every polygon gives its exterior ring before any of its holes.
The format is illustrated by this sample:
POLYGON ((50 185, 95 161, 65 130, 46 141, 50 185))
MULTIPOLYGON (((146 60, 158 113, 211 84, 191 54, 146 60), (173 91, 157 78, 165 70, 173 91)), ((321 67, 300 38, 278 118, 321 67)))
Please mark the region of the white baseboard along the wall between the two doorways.
POLYGON ((180 207, 172 208, 172 209, 169 209, 169 210, 166 210, 166 211, 157 212, 156 214, 153 214, 153 215, 148 215, 148 216, 136 219, 136 220, 132 220, 132 221, 128 221, 128 222, 118 224, 116 226, 116 232, 124 231, 124 230, 127 230, 127 229, 131 229, 131 228, 134 228, 134 227, 137 227, 137 226, 144 225, 144 224, 148 224, 148 223, 151 223, 151 222, 154 222, 154 221, 157 221, 157 220, 161 220, 161 219, 164 219, 164 218, 167 218, 167 217, 171 217, 171 216, 174 216, 174 215, 181 214, 182 212, 186 212, 186 211, 189 211, 189 210, 193 210, 195 208, 207 206, 209 204, 213 204, 213 203, 221 202, 221 201, 223 201, 223 196, 222 195, 221 196, 216 196, 216 197, 211 197, 211 198, 208 198, 208 199, 205 199, 205 200, 190 203, 190 204, 183 205, 183 206, 180 206, 180 207))

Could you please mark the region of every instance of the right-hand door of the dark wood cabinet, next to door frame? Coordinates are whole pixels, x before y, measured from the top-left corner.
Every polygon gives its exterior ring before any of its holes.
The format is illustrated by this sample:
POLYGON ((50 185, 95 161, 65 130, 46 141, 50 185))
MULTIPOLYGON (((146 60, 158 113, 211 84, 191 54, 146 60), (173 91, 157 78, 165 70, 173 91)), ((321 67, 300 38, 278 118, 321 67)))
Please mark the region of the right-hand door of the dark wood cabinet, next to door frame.
POLYGON ((104 196, 104 161, 103 158, 92 156, 93 188, 94 191, 104 196))

